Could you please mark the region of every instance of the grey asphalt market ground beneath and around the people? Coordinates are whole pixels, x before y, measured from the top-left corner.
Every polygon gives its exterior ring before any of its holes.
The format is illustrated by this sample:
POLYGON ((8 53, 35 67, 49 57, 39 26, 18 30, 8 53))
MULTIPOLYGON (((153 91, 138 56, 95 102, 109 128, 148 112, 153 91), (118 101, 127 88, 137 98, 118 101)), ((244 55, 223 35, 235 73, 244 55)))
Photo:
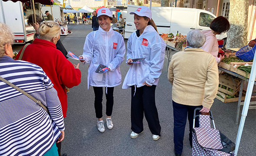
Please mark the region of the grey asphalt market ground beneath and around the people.
MULTIPOLYGON (((91 25, 69 25, 68 29, 72 31, 72 34, 61 36, 60 39, 67 51, 81 55, 85 36, 92 31, 91 25)), ((13 47, 16 51, 20 48, 21 46, 13 47)), ((69 60, 75 64, 79 63, 76 60, 69 60)), ((121 64, 122 80, 128 68, 124 62, 121 64)), ((82 82, 79 86, 71 88, 68 93, 68 112, 65 118, 66 130, 65 139, 62 142, 62 153, 67 153, 69 156, 173 156, 173 109, 171 84, 167 80, 166 68, 165 63, 156 89, 156 105, 162 130, 160 139, 154 141, 145 119, 144 133, 136 139, 130 138, 131 89, 121 89, 121 85, 114 89, 112 114, 114 128, 112 130, 106 128, 105 133, 98 132, 93 88, 87 90, 88 65, 80 65, 82 82)), ((223 104, 215 99, 211 108, 217 129, 233 142, 236 141, 239 128, 239 125, 235 124, 236 107, 237 102, 223 104)), ((105 112, 105 99, 103 100, 103 112, 105 112)), ((256 156, 255 131, 256 110, 249 110, 238 151, 239 156, 256 156)), ((186 127, 183 156, 191 156, 192 149, 189 145, 188 133, 188 127, 186 127)))

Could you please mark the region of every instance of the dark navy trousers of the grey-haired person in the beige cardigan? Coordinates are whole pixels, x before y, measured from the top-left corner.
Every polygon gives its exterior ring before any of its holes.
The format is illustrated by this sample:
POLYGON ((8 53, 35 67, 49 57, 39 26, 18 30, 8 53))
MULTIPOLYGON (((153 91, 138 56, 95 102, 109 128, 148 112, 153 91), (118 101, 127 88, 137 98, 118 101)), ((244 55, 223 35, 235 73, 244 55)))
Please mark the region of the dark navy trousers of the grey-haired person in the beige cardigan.
MULTIPOLYGON (((183 140, 184 140, 184 132, 186 127, 186 122, 188 118, 189 122, 189 141, 192 146, 192 128, 193 128, 193 118, 194 118, 194 110, 197 107, 203 106, 188 106, 184 104, 178 104, 172 101, 173 105, 173 115, 174 115, 174 149, 175 153, 181 154, 183 150, 183 140)), ((197 114, 199 112, 197 111, 197 114)), ((196 118, 195 127, 199 127, 199 120, 196 118)))

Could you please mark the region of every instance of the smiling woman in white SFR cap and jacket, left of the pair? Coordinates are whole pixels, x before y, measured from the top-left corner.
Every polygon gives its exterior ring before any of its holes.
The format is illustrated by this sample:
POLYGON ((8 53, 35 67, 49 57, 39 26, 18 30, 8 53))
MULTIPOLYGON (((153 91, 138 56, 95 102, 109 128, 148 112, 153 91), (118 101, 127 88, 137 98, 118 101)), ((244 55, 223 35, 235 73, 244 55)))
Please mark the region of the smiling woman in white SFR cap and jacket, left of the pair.
POLYGON ((113 128, 111 119, 114 104, 114 87, 121 84, 121 72, 119 66, 124 60, 125 42, 121 34, 113 31, 111 28, 112 14, 108 8, 98 10, 99 29, 91 32, 86 36, 84 52, 80 58, 85 61, 84 64, 90 63, 88 69, 88 89, 93 86, 95 93, 95 113, 98 118, 98 131, 105 132, 104 122, 102 119, 102 97, 103 87, 106 95, 106 123, 108 129, 113 128), (108 71, 99 74, 95 71, 102 64, 108 67, 108 71))

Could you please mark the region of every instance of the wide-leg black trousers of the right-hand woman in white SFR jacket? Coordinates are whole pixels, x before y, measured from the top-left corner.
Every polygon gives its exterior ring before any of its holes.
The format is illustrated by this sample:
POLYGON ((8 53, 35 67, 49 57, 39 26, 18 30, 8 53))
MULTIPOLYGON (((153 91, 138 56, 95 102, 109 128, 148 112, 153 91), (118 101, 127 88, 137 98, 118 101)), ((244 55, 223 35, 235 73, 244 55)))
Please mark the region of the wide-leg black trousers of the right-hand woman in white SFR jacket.
POLYGON ((148 121, 148 127, 152 134, 161 135, 161 126, 158 118, 158 110, 155 105, 156 85, 146 85, 137 88, 131 86, 131 130, 135 133, 143 131, 143 117, 148 121), (135 93, 135 95, 134 95, 135 93))

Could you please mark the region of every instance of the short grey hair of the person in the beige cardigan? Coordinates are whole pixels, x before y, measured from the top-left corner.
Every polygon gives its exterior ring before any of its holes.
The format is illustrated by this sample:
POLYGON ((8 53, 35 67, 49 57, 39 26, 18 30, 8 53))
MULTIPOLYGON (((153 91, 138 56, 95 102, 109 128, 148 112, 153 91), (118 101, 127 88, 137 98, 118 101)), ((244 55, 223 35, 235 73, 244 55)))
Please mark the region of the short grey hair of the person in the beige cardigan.
POLYGON ((187 46, 200 48, 203 46, 205 40, 206 36, 199 29, 191 30, 187 34, 187 46))

